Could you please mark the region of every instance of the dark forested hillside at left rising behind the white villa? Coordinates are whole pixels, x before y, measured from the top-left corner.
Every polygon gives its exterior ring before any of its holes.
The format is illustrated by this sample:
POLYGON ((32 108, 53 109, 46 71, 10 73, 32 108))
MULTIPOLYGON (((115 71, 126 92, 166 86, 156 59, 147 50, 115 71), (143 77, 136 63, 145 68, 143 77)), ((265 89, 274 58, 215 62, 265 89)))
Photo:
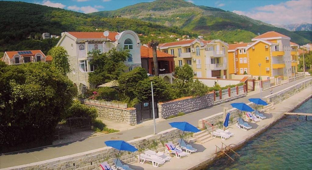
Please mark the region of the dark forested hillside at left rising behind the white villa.
MULTIPOLYGON (((92 16, 61 8, 47 7, 26 2, 0 1, 0 52, 41 49, 46 53, 55 46, 58 39, 42 40, 43 32, 61 35, 65 31, 124 31, 133 30, 138 34, 162 36, 160 43, 174 41, 168 35, 197 34, 178 27, 166 27, 139 19, 111 18, 92 16), (30 10, 31 9, 31 10, 30 10)), ((147 43, 152 36, 141 36, 141 42, 147 43)), ((2 57, 2 54, 0 54, 2 57)))

